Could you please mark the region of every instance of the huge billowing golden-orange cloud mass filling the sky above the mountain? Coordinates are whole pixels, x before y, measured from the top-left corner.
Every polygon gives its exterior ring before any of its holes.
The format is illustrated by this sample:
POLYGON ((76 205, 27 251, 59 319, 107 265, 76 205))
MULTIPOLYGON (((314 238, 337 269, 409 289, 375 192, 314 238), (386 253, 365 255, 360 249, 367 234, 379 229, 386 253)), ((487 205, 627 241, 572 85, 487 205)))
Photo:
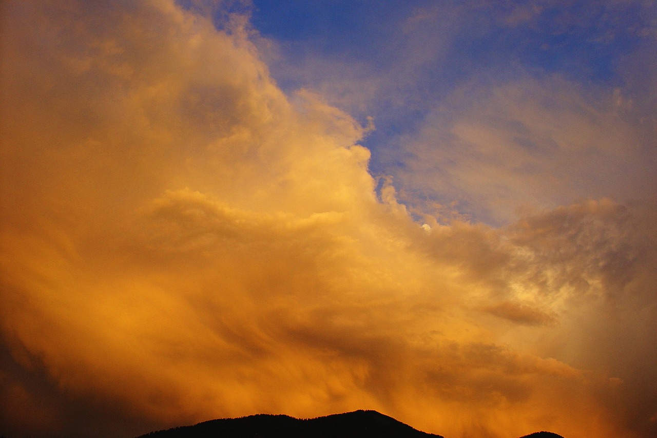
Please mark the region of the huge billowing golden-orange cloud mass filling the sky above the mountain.
POLYGON ((358 408, 447 437, 657 430, 654 209, 440 224, 369 174, 366 128, 277 87, 242 16, 1 14, 0 434, 358 408))

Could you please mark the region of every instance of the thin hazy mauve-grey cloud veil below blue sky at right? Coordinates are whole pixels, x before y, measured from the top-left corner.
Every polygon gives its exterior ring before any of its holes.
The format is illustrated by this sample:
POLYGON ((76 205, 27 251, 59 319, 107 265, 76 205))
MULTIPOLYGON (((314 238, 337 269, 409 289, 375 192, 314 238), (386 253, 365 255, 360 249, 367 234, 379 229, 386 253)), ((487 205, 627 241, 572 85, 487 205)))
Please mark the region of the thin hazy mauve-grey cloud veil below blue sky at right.
POLYGON ((654 154, 632 116, 612 95, 587 97, 560 78, 472 84, 407 137, 396 181, 497 223, 521 207, 649 199, 654 154))

